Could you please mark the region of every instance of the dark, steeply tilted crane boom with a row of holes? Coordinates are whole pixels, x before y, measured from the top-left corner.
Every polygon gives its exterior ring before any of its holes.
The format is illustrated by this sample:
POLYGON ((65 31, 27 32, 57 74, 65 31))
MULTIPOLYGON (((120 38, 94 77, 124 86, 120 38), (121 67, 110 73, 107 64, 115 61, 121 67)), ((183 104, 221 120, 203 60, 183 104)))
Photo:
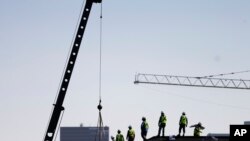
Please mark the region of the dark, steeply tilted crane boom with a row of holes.
POLYGON ((44 141, 53 141, 54 139, 54 135, 58 126, 58 121, 62 115, 62 111, 64 110, 63 101, 74 69, 75 61, 78 55, 78 51, 80 49, 80 45, 82 42, 83 34, 88 22, 92 5, 93 3, 101 3, 101 2, 102 0, 86 0, 85 2, 85 7, 82 11, 78 29, 74 38, 74 42, 72 44, 71 52, 67 60, 67 66, 64 71, 64 75, 61 80, 61 85, 58 90, 56 103, 53 104, 54 107, 45 133, 44 141))

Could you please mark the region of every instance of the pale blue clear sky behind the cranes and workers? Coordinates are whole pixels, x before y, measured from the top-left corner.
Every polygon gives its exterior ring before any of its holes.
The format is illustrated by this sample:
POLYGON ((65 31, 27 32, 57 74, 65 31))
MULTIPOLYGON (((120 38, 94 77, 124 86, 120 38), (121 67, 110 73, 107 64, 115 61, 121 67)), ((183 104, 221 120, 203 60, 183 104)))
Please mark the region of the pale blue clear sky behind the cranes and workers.
MULTIPOLYGON (((64 72, 83 0, 0 1, 0 136, 43 140, 64 72)), ((64 101, 60 126, 96 126, 99 101, 100 4, 94 4, 64 101)), ((110 135, 128 126, 140 138, 157 134, 161 111, 166 135, 189 125, 229 133, 250 120, 249 90, 146 85, 136 73, 207 76, 249 70, 248 0, 103 1, 102 117, 110 135)), ((249 73, 222 78, 249 79, 249 73)), ((187 135, 193 129, 187 128, 187 135)), ((59 141, 59 136, 56 139, 59 141)))

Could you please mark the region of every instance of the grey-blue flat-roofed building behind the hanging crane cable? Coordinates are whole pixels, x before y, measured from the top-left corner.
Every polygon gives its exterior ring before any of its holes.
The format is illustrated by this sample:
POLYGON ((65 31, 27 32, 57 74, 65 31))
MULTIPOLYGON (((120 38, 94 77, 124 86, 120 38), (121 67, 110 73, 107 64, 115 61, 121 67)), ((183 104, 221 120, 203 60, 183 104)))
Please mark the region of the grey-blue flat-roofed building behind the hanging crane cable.
POLYGON ((61 127, 60 141, 109 141, 109 127, 61 127), (99 132, 100 131, 100 132, 99 132), (101 134, 99 134, 101 133, 101 134))

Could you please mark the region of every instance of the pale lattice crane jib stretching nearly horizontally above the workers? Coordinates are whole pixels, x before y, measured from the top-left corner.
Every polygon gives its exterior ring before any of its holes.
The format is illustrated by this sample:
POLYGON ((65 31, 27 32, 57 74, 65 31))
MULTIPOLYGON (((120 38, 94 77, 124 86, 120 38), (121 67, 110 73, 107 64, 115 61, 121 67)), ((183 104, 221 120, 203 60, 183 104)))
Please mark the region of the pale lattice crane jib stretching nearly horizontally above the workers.
POLYGON ((134 83, 250 90, 250 80, 210 77, 190 77, 138 73, 135 75, 134 83))

